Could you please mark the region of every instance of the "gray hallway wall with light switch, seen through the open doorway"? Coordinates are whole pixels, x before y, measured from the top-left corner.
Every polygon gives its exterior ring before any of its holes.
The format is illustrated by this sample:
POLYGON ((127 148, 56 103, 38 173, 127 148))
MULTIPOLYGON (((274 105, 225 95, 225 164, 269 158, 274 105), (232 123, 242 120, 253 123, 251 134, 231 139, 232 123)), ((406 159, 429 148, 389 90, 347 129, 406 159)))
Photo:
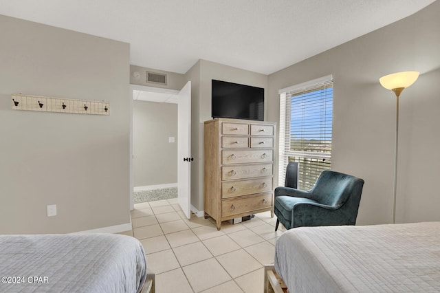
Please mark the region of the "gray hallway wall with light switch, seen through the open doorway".
POLYGON ((133 101, 133 142, 135 187, 177 183, 177 104, 133 101))

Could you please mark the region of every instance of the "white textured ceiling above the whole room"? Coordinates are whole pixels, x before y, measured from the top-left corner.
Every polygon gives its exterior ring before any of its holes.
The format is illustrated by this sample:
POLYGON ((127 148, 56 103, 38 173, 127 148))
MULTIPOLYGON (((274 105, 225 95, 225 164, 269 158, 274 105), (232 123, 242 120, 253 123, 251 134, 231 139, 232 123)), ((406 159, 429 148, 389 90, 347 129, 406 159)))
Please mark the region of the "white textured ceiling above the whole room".
POLYGON ((130 43, 131 64, 271 74, 434 0, 0 0, 0 14, 130 43))

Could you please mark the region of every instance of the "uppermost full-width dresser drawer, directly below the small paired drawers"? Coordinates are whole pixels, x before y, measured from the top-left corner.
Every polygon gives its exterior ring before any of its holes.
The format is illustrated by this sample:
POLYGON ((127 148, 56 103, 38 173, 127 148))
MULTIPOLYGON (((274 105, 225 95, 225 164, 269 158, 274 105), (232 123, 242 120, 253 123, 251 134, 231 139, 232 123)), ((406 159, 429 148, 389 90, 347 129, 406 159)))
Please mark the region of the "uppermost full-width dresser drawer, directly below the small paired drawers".
POLYGON ((221 151, 222 164, 261 163, 272 162, 271 150, 223 150, 221 151))

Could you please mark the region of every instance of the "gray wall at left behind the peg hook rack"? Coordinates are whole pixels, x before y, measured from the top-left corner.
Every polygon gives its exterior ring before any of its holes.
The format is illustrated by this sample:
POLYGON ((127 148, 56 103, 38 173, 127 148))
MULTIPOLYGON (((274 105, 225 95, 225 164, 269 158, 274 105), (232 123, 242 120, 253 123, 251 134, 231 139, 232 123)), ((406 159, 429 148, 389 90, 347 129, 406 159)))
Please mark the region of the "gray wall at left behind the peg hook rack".
POLYGON ((129 224, 129 45, 1 15, 0 28, 0 234, 129 224), (16 93, 105 100, 111 115, 14 111, 16 93))

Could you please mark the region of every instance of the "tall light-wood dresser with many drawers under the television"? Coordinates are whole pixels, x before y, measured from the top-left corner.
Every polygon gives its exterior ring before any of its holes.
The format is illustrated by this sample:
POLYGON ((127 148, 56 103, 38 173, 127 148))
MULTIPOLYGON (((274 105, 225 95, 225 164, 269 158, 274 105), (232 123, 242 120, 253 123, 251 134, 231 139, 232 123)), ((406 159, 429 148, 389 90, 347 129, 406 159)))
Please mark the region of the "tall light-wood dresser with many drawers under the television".
POLYGON ((261 213, 273 217, 276 123, 215 118, 204 125, 204 212, 217 222, 261 213))

